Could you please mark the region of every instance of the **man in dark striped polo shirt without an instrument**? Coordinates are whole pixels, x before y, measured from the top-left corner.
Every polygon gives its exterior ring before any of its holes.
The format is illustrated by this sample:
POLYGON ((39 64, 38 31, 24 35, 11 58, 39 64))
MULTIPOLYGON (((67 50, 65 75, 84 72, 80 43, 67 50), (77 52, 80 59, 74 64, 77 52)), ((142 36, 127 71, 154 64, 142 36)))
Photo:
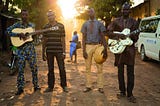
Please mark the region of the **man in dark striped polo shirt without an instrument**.
POLYGON ((66 56, 64 25, 55 20, 55 13, 51 10, 47 12, 47 17, 49 23, 44 26, 44 29, 52 28, 53 30, 43 34, 42 54, 43 60, 46 58, 48 64, 48 88, 44 92, 52 92, 55 85, 54 58, 56 58, 59 67, 61 87, 64 92, 68 92, 64 63, 66 56))

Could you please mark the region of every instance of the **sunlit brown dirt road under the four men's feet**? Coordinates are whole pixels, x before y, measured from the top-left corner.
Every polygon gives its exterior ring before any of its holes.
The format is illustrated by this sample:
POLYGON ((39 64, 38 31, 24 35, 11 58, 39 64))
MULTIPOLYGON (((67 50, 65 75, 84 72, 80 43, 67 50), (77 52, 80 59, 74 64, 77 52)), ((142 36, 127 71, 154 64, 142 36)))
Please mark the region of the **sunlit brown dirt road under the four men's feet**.
POLYGON ((155 61, 142 62, 137 54, 134 88, 137 103, 133 104, 129 103, 126 98, 119 100, 116 97, 118 92, 117 68, 113 66, 114 55, 112 53, 108 52, 108 59, 104 63, 104 94, 100 94, 96 89, 95 65, 92 65, 93 91, 83 93, 85 63, 82 58, 82 50, 78 50, 78 63, 75 64, 67 62, 69 60, 69 46, 67 48, 65 63, 69 93, 62 92, 57 65, 55 66, 55 89, 52 93, 43 93, 47 87, 47 64, 41 59, 41 46, 37 46, 39 83, 42 89, 40 92, 33 92, 31 72, 27 64, 24 93, 15 96, 16 75, 8 75, 8 68, 5 65, 8 56, 3 54, 6 57, 0 64, 0 77, 2 79, 0 82, 0 106, 160 106, 160 63, 155 61))

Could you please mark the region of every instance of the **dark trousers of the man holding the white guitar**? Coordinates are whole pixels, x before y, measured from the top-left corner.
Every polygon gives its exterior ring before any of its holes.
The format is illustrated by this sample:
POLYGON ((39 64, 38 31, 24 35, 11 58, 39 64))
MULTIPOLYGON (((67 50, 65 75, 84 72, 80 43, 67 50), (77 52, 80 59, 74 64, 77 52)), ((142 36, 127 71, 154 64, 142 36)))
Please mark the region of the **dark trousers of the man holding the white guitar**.
MULTIPOLYGON (((118 65, 118 82, 119 90, 121 93, 126 92, 125 80, 124 80, 124 64, 118 65)), ((132 96, 134 88, 134 65, 127 65, 127 96, 132 96)))

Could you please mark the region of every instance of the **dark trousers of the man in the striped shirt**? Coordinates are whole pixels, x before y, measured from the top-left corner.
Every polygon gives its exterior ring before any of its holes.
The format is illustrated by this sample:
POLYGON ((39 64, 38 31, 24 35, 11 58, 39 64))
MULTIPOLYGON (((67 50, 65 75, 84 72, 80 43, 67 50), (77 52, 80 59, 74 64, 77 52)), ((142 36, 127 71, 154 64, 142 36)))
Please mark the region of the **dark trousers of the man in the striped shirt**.
POLYGON ((54 57, 56 57, 58 67, 59 67, 61 87, 64 88, 67 86, 67 82, 66 82, 66 70, 65 70, 64 58, 62 53, 56 53, 56 54, 47 53, 48 87, 53 89, 55 84, 54 57))

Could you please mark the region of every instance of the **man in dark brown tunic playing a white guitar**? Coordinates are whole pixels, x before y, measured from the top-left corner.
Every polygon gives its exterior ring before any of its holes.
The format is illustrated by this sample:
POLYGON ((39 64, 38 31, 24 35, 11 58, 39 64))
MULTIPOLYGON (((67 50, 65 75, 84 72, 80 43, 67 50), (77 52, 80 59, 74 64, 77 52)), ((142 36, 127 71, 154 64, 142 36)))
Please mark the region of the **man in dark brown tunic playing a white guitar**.
MULTIPOLYGON (((130 31, 134 31, 138 28, 137 22, 129 17, 130 13, 130 4, 124 3, 122 6, 122 16, 115 19, 108 26, 108 34, 111 39, 125 39, 126 35, 117 34, 113 31, 122 32, 125 28, 129 28, 130 31)), ((127 92, 127 97, 130 102, 135 103, 136 98, 133 96, 133 88, 134 88, 134 64, 135 64, 135 42, 138 40, 138 34, 129 35, 131 40, 134 42, 131 46, 127 46, 125 50, 121 54, 115 54, 115 66, 118 67, 118 82, 119 82, 119 90, 120 93, 117 94, 118 98, 125 97, 127 92), (127 66, 127 91, 125 87, 124 80, 124 65, 127 66)))

